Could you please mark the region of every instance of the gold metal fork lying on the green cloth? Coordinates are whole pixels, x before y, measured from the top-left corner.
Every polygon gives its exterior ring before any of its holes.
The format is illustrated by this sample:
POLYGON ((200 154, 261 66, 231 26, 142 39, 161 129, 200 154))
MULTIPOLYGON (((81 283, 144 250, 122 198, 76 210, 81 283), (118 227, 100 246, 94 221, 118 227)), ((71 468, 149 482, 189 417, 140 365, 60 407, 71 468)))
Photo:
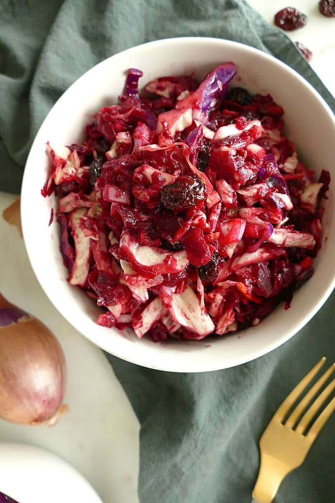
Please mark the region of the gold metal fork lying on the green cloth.
POLYGON ((335 370, 335 364, 333 364, 324 372, 314 386, 310 388, 308 393, 306 393, 291 412, 285 424, 283 424, 284 418, 291 407, 312 381, 324 362, 325 357, 321 358, 315 367, 296 385, 280 405, 263 433, 259 444, 261 465, 253 490, 254 499, 252 503, 271 503, 273 501, 284 477, 303 463, 314 440, 335 410, 334 396, 317 417, 307 434, 304 435, 314 416, 320 410, 330 393, 335 389, 335 379, 324 388, 298 422, 299 417, 335 370), (298 424, 295 430, 293 430, 297 422, 298 424))

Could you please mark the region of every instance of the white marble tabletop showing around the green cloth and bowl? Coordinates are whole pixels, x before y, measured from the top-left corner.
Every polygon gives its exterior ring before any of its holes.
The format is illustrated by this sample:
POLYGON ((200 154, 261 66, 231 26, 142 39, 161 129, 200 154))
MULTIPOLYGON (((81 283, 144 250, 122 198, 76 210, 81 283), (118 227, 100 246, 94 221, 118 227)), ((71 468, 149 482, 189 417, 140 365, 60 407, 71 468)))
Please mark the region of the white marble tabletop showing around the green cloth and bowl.
MULTIPOLYGON (((287 2, 251 0, 272 23, 287 2)), ((307 25, 289 33, 313 52, 311 64, 335 94, 335 19, 321 16, 315 0, 294 0, 307 25)), ((15 197, 0 192, 0 215, 15 197)), ((70 411, 54 428, 16 426, 0 420, 0 441, 26 442, 49 449, 72 463, 104 503, 137 503, 139 425, 102 352, 86 341, 56 311, 30 267, 22 238, 0 216, 0 291, 38 316, 59 338, 67 358, 70 411)), ((1 487, 0 487, 1 490, 1 487)))

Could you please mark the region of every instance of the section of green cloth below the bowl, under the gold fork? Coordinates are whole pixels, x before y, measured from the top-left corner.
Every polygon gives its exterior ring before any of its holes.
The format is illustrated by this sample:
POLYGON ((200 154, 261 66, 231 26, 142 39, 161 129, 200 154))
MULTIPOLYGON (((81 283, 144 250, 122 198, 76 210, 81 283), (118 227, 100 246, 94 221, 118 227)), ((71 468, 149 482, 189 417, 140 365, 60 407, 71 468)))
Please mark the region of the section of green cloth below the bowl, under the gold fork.
MULTIPOLYGON (((107 355, 141 422, 141 503, 250 503, 259 439, 303 375, 334 361, 334 326, 332 295, 290 341, 232 369, 176 374, 107 355)), ((335 414, 275 503, 335 501, 334 428, 335 414)))

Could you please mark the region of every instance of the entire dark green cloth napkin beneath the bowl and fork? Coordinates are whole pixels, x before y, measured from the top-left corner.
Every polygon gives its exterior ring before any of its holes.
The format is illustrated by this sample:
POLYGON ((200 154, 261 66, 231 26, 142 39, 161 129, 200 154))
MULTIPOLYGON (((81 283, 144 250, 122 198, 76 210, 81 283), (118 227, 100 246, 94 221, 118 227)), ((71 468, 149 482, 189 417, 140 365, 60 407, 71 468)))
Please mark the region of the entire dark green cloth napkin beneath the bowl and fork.
MULTIPOLYGON (((335 110, 333 97, 285 34, 243 0, 2 0, 0 189, 19 193, 38 127, 84 71, 134 45, 185 35, 237 40, 272 53, 335 110)), ((141 503, 249 503, 260 435, 302 375, 323 355, 334 360, 333 326, 334 296, 279 349, 203 374, 158 372, 107 355, 142 425, 141 503)), ((276 502, 333 503, 334 426, 331 417, 276 502)))

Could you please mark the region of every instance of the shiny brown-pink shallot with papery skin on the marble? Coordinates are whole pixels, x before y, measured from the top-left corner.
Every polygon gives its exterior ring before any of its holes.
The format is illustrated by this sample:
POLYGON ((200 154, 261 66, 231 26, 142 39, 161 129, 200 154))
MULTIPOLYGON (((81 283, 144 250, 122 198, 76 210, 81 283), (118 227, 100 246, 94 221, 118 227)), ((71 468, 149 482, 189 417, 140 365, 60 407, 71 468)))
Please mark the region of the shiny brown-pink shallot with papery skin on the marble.
POLYGON ((52 424, 65 387, 65 356, 54 334, 0 294, 0 417, 52 424))

